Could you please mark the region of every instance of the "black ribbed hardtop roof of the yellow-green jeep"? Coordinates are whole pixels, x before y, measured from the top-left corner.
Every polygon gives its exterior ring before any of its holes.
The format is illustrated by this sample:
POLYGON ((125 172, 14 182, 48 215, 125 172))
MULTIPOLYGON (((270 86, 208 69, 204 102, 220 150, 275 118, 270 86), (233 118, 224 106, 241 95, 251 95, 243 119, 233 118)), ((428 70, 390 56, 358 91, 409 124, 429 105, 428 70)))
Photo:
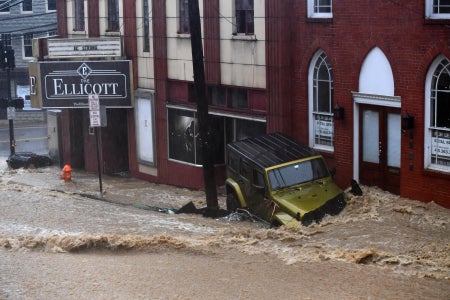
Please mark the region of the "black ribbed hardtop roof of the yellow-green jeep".
POLYGON ((247 138, 227 145, 262 168, 318 155, 318 153, 281 133, 247 138))

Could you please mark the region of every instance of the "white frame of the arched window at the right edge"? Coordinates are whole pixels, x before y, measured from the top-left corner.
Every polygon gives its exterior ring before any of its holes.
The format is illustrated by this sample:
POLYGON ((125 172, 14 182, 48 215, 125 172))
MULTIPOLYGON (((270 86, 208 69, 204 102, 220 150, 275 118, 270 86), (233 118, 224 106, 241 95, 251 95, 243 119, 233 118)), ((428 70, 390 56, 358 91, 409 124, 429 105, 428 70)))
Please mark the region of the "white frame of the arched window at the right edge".
MULTIPOLYGON (((434 76, 434 73, 436 72, 437 67, 441 62, 446 59, 447 61, 450 61, 447 57, 444 55, 438 56, 433 63, 431 64, 427 77, 425 80, 425 124, 424 124, 424 168, 427 170, 434 170, 434 171, 440 171, 445 173, 450 173, 450 165, 440 165, 440 164, 434 164, 432 163, 431 156, 432 156, 432 131, 433 130, 439 130, 443 132, 448 132, 450 134, 450 129, 443 129, 440 127, 432 127, 431 126, 431 84, 432 79, 434 76)), ((450 65, 450 64, 449 64, 450 65)), ((449 91, 450 92, 450 91, 449 91)))

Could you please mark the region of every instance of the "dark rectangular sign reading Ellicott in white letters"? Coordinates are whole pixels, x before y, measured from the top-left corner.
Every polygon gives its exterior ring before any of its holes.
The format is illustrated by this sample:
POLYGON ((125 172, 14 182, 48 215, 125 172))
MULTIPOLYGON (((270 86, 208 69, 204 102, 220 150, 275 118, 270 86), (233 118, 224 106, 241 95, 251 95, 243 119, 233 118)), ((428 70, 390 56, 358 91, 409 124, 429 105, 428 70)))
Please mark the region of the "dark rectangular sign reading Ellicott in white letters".
POLYGON ((98 95, 106 107, 132 107, 131 62, 64 61, 30 64, 32 107, 88 107, 98 95))

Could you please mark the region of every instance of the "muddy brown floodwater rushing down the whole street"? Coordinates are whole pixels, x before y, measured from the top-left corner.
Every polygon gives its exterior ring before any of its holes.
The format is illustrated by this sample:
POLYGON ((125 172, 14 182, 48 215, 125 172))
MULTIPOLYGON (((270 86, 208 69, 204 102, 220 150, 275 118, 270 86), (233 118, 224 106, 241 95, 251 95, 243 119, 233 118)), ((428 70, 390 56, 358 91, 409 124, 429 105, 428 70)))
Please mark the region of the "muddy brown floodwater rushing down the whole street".
POLYGON ((100 200, 83 172, 0 172, 0 299, 450 299, 434 203, 363 186, 338 216, 274 229, 154 211, 201 191, 106 177, 100 200))

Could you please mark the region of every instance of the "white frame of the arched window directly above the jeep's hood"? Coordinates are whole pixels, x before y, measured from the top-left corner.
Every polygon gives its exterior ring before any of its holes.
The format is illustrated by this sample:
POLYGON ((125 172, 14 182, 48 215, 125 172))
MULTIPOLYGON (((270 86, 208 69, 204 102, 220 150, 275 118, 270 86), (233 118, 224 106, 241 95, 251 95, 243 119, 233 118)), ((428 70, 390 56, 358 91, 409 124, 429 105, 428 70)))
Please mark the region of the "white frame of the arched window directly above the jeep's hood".
MULTIPOLYGON (((315 112, 314 111, 314 102, 315 102, 315 93, 314 93, 314 80, 315 80, 315 70, 316 65, 319 59, 321 59, 321 56, 326 55, 326 53, 322 50, 317 51, 312 60, 311 64, 309 66, 309 74, 308 74, 308 119, 309 119, 309 146, 311 148, 317 149, 317 150, 323 150, 328 152, 334 152, 334 115, 333 115, 333 99, 331 99, 330 103, 330 112, 327 113, 321 113, 321 112, 315 112), (331 118, 332 122, 332 128, 331 128, 331 145, 324 145, 316 143, 316 115, 323 115, 325 117, 331 118)), ((331 68, 331 66, 330 66, 331 68)), ((330 90, 330 96, 333 97, 333 74, 330 75, 331 78, 331 90, 330 90)))

